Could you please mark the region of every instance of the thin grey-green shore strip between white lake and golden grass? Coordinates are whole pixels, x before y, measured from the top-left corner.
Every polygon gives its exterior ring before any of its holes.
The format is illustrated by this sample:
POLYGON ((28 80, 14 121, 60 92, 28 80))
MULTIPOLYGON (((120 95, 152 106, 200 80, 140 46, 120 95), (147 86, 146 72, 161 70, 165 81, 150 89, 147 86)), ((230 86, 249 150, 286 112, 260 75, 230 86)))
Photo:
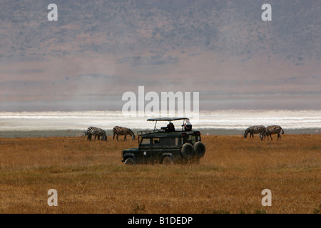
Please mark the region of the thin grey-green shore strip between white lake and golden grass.
MULTIPOLYGON (((145 130, 145 129, 132 129, 134 133, 137 131, 145 130)), ((150 129, 146 129, 150 130, 150 129)), ((199 130, 202 135, 243 135, 244 130, 238 129, 220 129, 220 128, 203 128, 203 129, 195 129, 199 130)), ((39 138, 39 137, 81 137, 83 136, 84 130, 8 130, 8 131, 0 131, 0 138, 39 138)), ((321 133, 321 128, 305 128, 305 129, 284 129, 285 134, 291 135, 318 135, 321 133)), ((106 134, 108 138, 113 137, 112 130, 106 130, 106 134)))

